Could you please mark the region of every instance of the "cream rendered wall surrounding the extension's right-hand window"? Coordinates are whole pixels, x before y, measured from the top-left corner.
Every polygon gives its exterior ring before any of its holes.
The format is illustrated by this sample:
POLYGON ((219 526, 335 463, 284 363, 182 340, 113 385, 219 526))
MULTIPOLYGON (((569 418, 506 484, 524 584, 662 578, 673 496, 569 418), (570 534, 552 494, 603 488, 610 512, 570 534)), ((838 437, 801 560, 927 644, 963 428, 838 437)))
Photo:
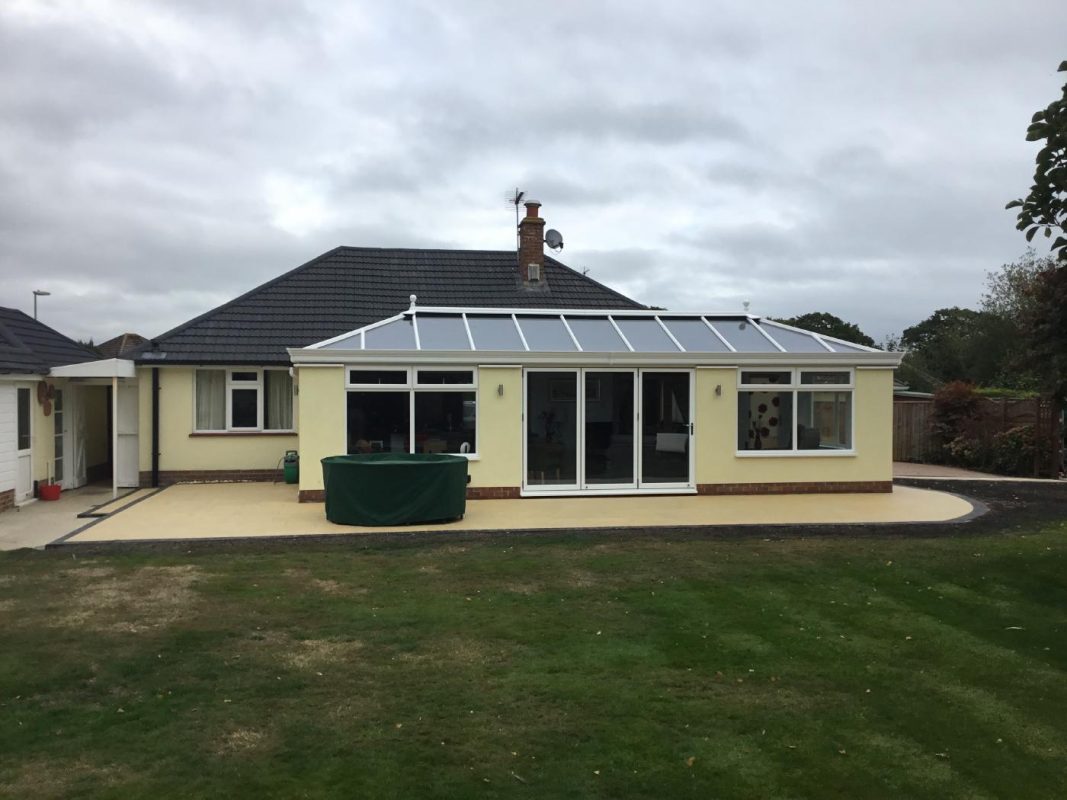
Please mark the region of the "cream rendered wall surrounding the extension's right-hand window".
POLYGON ((857 369, 855 455, 738 457, 737 370, 698 369, 697 483, 889 481, 893 478, 893 370, 857 369), (722 395, 715 387, 722 386, 722 395))

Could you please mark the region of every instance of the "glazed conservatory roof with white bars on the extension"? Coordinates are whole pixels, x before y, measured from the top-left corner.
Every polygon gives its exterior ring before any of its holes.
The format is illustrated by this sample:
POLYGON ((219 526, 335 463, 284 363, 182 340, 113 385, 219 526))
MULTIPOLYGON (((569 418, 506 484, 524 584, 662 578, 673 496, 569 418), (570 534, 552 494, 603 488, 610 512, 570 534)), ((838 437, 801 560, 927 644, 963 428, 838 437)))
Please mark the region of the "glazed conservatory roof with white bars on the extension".
POLYGON ((411 308, 306 348, 294 364, 338 359, 482 363, 833 363, 893 366, 899 353, 749 314, 662 310, 411 308), (402 355, 401 355, 402 354, 402 355))

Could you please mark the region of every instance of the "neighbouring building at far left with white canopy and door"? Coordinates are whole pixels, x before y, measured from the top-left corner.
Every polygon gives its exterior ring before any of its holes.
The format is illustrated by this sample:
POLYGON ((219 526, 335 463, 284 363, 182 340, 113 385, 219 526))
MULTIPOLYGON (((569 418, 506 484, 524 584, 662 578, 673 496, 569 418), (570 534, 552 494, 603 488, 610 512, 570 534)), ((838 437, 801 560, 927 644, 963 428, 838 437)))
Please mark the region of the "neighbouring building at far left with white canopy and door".
POLYGON ((129 362, 101 361, 22 311, 0 308, 0 511, 33 499, 43 481, 136 483, 133 374, 129 362), (127 425, 115 428, 120 401, 127 425))

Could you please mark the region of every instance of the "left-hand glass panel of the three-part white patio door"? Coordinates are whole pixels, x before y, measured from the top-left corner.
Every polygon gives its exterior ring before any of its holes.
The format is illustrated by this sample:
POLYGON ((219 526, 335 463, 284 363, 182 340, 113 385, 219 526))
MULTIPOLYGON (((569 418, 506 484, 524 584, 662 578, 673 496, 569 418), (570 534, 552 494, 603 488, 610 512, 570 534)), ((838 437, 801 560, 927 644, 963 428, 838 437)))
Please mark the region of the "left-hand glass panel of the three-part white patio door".
POLYGON ((526 373, 526 485, 578 485, 578 373, 526 373))

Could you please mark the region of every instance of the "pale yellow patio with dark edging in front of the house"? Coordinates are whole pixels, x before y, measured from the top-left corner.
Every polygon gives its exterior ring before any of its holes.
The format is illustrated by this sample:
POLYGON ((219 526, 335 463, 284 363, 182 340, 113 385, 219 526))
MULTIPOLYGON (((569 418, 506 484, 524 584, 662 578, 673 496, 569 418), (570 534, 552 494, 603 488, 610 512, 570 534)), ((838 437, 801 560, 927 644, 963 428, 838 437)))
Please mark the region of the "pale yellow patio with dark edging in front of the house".
POLYGON ((297 502, 294 486, 281 483, 190 483, 142 495, 66 542, 421 531, 939 523, 966 516, 973 510, 964 498, 945 492, 896 486, 887 494, 468 500, 466 516, 452 523, 370 528, 330 523, 321 503, 297 502))

